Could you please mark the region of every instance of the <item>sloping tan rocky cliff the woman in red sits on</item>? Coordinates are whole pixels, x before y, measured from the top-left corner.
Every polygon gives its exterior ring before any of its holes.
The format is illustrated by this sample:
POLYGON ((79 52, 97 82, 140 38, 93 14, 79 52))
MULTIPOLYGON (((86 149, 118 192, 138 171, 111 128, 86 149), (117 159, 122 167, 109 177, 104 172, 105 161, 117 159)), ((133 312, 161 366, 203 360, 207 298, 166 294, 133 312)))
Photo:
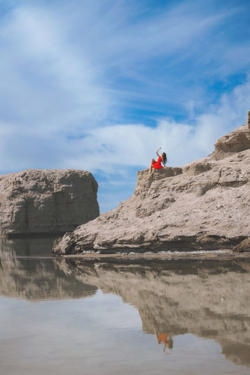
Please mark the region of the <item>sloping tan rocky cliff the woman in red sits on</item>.
POLYGON ((250 119, 211 156, 149 176, 115 210, 66 233, 58 254, 230 249, 250 233, 250 119))

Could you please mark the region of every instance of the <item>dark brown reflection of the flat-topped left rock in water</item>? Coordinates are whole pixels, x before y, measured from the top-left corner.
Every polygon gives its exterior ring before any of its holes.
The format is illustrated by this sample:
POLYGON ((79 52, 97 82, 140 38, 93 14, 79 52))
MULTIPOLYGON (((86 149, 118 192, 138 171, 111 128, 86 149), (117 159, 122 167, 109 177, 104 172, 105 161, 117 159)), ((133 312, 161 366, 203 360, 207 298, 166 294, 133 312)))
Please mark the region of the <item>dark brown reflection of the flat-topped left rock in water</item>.
POLYGON ((0 294, 24 299, 66 299, 87 297, 97 288, 55 270, 50 258, 16 258, 15 251, 0 249, 0 294))

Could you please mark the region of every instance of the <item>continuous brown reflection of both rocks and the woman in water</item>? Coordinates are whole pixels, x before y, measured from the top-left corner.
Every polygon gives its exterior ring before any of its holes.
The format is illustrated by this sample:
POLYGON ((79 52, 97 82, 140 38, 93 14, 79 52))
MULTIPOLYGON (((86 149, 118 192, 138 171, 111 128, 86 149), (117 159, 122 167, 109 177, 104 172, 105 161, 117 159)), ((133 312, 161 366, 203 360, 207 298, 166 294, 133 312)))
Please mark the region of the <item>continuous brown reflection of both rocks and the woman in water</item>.
POLYGON ((142 330, 165 353, 175 349, 177 335, 191 333, 215 340, 232 362, 250 365, 250 263, 17 258, 14 243, 1 247, 1 295, 40 301, 100 289, 135 306, 142 330))

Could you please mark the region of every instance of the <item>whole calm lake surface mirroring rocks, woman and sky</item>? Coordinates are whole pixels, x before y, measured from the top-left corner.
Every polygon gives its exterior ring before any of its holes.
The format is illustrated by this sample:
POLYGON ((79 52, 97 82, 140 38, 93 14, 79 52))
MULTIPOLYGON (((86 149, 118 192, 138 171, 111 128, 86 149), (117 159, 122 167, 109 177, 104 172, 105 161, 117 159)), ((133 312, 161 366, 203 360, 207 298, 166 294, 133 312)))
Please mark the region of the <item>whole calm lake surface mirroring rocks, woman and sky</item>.
POLYGON ((248 374, 250 263, 51 258, 1 240, 1 374, 248 374))

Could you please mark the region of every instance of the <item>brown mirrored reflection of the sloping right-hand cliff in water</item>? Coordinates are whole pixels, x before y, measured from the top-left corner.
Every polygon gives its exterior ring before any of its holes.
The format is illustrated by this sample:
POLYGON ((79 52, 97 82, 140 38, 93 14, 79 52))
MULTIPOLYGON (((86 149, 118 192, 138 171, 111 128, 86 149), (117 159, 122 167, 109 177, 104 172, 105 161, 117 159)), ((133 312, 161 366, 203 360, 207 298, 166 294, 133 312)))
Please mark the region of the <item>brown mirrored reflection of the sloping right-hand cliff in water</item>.
POLYGON ((145 333, 211 338, 227 358, 250 365, 250 264, 54 261, 67 276, 138 308, 145 333))

